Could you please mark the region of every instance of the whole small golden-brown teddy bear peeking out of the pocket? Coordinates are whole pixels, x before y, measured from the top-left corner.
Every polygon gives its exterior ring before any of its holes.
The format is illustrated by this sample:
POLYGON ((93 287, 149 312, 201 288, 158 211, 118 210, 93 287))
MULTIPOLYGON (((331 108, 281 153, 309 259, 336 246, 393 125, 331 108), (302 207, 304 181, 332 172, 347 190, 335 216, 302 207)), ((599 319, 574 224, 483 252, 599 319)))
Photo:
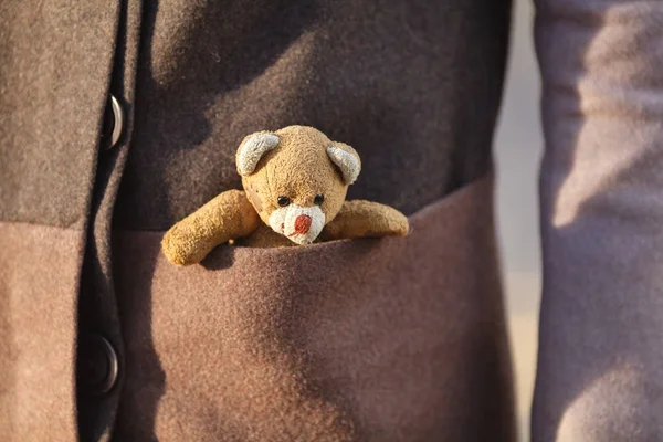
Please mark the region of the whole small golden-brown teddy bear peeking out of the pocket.
POLYGON ((176 223, 161 241, 171 263, 199 263, 223 243, 272 248, 409 232, 406 215, 389 206, 346 201, 359 155, 313 127, 249 135, 235 159, 244 190, 224 191, 176 223))

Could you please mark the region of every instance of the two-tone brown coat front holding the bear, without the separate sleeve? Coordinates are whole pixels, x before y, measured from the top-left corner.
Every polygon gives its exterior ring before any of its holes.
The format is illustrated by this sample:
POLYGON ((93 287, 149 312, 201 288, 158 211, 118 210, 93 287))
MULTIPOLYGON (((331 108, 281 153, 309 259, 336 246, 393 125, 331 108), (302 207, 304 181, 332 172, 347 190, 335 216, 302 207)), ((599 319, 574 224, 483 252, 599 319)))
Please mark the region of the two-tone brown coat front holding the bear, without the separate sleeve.
POLYGON ((0 10, 0 440, 514 439, 491 178, 507 1, 0 10), (169 264, 164 231, 241 187, 242 138, 293 124, 355 147, 348 197, 413 233, 169 264))

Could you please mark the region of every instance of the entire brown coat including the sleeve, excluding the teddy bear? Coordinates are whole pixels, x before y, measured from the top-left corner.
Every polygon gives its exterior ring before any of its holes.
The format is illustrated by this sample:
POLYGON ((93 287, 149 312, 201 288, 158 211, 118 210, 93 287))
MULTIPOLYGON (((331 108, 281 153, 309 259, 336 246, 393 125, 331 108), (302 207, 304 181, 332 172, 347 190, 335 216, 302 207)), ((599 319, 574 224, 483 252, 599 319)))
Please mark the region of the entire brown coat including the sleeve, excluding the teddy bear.
MULTIPOLYGON (((662 14, 539 1, 536 441, 663 434, 662 14)), ((0 2, 0 440, 512 441, 491 173, 508 17, 507 0, 0 2), (106 150, 110 94, 125 124, 106 150), (162 232, 240 188, 243 136, 292 124, 355 147, 349 198, 413 233, 169 265, 162 232)))

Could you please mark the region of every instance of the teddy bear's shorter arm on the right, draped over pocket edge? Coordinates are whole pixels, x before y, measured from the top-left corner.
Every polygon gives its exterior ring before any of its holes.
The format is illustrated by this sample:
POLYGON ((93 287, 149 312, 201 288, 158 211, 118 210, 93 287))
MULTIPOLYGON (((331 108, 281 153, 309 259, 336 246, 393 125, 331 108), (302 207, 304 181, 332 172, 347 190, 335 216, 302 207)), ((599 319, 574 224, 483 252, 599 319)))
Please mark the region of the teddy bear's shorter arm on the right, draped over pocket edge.
POLYGON ((322 232, 324 241, 350 238, 404 236, 408 218, 389 206, 370 201, 346 201, 322 232))

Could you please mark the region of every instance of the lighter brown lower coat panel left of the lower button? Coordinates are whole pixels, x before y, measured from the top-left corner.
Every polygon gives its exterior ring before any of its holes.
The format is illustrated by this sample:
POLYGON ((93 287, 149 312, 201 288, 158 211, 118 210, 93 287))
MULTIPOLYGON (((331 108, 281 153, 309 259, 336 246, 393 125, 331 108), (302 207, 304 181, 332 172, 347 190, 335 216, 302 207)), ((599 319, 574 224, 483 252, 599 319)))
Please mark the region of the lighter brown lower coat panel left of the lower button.
POLYGON ((73 441, 82 230, 0 222, 0 440, 73 441), (55 424, 56 423, 56 424, 55 424))

